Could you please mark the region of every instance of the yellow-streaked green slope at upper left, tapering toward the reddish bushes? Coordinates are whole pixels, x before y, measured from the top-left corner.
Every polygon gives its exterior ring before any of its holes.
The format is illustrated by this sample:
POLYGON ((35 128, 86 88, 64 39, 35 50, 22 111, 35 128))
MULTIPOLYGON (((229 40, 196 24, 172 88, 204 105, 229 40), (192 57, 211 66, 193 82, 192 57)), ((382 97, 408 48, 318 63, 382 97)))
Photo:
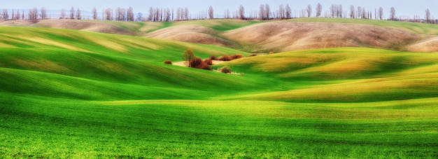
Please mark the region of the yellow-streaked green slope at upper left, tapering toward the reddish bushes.
POLYGON ((180 60, 179 54, 187 48, 192 48, 200 57, 246 54, 216 46, 66 29, 1 27, 0 36, 2 37, 0 46, 4 48, 59 48, 86 53, 136 57, 155 62, 167 59, 180 60))

